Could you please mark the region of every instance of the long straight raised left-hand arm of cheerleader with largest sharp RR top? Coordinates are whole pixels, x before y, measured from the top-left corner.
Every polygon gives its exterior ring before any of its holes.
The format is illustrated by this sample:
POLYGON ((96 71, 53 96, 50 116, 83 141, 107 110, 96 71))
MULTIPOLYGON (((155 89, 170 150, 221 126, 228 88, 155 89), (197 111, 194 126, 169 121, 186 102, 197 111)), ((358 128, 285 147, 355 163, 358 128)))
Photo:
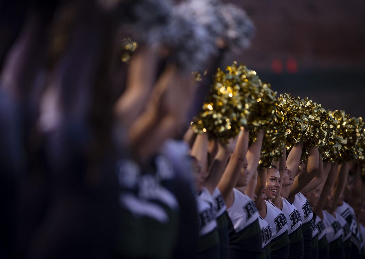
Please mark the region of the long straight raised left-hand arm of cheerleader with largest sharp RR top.
POLYGON ((243 162, 245 161, 248 144, 249 144, 249 130, 246 130, 242 127, 241 134, 238 137, 236 147, 217 185, 226 203, 228 200, 228 196, 230 195, 230 192, 235 187, 243 162))

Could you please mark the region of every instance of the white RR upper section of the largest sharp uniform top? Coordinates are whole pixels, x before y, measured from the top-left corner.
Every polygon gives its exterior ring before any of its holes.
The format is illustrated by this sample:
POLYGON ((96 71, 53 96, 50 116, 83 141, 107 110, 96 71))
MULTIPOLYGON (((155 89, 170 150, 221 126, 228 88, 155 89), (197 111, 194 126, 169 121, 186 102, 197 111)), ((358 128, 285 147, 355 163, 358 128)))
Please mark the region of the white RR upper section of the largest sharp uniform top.
POLYGON ((233 188, 233 192, 234 201, 231 207, 227 209, 227 212, 234 230, 239 232, 254 223, 260 215, 249 196, 236 188, 233 188))

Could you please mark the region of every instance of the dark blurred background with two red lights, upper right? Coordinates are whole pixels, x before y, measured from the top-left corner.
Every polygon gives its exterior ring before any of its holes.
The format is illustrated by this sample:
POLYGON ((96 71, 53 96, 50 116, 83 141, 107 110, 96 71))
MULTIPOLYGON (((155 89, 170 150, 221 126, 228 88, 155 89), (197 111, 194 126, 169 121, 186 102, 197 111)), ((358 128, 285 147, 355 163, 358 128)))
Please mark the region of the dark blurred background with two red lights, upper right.
POLYGON ((365 1, 230 0, 256 26, 251 47, 227 55, 273 90, 365 117, 365 1))

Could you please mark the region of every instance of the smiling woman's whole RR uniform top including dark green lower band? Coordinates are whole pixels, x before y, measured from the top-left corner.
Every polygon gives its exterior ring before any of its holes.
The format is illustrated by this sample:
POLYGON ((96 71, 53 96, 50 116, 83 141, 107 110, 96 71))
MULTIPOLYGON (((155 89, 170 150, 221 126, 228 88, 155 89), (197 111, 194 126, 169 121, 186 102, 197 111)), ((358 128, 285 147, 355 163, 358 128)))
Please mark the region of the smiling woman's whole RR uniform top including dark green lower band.
POLYGON ((288 222, 284 213, 270 201, 266 201, 265 220, 269 223, 272 233, 271 250, 275 251, 289 244, 288 222))

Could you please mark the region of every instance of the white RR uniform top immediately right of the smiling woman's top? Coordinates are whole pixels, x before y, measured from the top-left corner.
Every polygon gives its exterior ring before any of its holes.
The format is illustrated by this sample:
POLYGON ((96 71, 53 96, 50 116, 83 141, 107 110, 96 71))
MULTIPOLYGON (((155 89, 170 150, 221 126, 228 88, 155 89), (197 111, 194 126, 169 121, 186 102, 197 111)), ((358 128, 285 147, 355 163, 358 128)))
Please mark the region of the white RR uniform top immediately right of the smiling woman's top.
POLYGON ((288 221, 288 235, 290 243, 295 243, 303 238, 303 233, 301 232, 301 217, 298 209, 289 201, 281 197, 283 200, 283 211, 285 217, 288 221))

